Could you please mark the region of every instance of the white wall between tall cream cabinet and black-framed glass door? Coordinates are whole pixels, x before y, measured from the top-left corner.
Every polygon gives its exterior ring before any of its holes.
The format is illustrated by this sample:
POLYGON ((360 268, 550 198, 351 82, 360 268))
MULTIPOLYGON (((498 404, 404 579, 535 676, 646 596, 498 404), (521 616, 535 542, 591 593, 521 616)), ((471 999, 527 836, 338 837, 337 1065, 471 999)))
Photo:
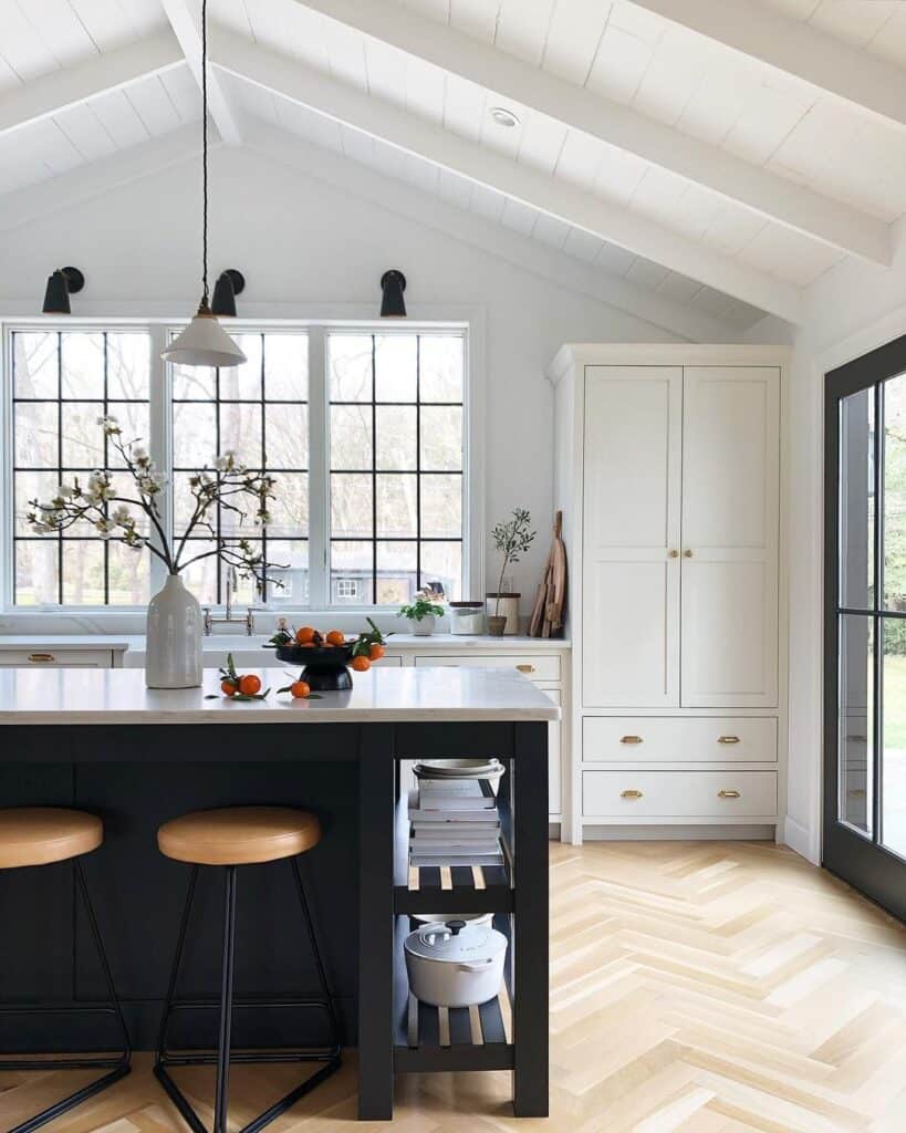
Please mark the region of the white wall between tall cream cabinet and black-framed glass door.
POLYGON ((786 455, 789 462, 789 781, 785 836, 812 861, 821 852, 824 374, 906 334, 903 223, 890 269, 846 261, 805 295, 802 325, 766 318, 746 337, 794 347, 786 455))

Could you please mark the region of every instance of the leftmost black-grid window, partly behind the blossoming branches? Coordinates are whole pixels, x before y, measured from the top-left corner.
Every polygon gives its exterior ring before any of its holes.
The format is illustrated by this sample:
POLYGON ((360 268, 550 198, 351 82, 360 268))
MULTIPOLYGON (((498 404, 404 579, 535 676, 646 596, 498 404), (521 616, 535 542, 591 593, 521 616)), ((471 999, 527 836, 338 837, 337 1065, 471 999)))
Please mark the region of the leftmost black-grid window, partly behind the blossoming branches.
MULTIPOLYGON (((100 539, 84 523, 36 536, 28 501, 94 469, 130 479, 104 437, 113 416, 123 440, 148 444, 151 338, 143 331, 12 333, 12 598, 17 606, 129 606, 148 600, 149 555, 100 539)), ((131 492, 123 494, 131 495, 131 492)), ((136 509, 133 509, 136 511, 136 509)), ((144 530, 139 527, 140 530, 144 530)))

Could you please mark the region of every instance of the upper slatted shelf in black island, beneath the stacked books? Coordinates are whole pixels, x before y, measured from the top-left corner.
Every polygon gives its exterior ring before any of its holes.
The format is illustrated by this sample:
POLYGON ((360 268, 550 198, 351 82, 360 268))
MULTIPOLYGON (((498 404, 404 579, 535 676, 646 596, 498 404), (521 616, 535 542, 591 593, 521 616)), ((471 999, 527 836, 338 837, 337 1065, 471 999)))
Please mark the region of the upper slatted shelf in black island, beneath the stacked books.
POLYGON ((410 868, 409 804, 396 803, 393 908, 398 913, 508 913, 513 889, 508 866, 410 868))

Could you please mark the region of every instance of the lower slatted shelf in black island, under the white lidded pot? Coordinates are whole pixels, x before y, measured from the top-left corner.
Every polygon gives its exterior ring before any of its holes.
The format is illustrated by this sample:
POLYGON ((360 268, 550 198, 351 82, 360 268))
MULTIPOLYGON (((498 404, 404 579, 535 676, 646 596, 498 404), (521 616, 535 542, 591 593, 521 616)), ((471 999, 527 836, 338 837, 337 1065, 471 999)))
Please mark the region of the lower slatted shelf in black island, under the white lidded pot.
POLYGON ((431 1007, 410 995, 403 940, 408 917, 398 917, 394 947, 394 1047, 398 1073, 512 1070, 514 1049, 507 1037, 508 1005, 503 997, 480 1007, 431 1007))

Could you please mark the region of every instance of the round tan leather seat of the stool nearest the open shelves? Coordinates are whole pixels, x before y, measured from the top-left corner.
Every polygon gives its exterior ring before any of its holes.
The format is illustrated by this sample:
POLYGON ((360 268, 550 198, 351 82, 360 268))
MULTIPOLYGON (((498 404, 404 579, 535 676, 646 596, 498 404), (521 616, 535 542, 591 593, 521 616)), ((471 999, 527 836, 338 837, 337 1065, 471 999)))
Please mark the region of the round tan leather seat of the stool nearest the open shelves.
POLYGON ((294 858, 320 842, 320 823, 289 807, 196 810, 157 830, 162 854, 195 866, 250 866, 294 858))

